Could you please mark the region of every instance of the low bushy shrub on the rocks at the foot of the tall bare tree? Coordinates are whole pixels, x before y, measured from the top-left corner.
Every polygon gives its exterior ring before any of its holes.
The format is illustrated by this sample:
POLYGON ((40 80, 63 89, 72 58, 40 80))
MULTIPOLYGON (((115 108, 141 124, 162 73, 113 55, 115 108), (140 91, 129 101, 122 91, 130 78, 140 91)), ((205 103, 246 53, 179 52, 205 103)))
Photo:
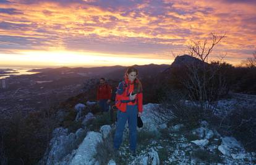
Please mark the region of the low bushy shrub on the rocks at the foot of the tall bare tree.
POLYGON ((179 91, 166 91, 166 96, 161 99, 159 106, 154 111, 156 122, 197 127, 200 121, 213 116, 213 111, 200 108, 195 101, 187 101, 184 99, 185 97, 179 91))

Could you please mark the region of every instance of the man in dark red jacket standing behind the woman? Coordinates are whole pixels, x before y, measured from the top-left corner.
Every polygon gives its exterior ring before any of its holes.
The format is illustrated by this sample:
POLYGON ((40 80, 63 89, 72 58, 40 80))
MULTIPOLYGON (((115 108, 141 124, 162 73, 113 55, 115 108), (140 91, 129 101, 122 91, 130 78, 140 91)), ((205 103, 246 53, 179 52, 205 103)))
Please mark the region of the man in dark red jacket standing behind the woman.
POLYGON ((101 112, 108 112, 111 95, 111 87, 106 83, 105 78, 100 78, 100 85, 97 88, 97 101, 101 107, 101 112))

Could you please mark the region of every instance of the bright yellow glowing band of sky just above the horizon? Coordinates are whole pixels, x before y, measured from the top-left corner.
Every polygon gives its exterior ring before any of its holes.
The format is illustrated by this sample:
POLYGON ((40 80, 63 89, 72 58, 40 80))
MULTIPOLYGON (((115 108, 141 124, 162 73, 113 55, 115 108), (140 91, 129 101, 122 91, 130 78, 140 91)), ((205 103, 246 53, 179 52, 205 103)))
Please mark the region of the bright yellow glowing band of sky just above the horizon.
POLYGON ((130 66, 131 64, 171 64, 169 59, 145 59, 139 57, 119 57, 113 54, 84 53, 74 51, 24 51, 20 54, 0 54, 2 65, 15 62, 28 66, 130 66))

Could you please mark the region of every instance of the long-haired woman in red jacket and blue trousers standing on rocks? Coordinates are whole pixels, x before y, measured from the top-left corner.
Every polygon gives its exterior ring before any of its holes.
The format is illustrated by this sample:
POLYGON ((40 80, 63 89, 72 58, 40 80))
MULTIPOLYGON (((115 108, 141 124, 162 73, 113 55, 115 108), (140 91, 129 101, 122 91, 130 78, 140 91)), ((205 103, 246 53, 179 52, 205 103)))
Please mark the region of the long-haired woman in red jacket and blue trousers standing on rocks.
POLYGON ((136 156, 137 116, 142 116, 142 83, 137 78, 138 70, 129 67, 120 82, 116 93, 117 125, 114 135, 114 149, 117 151, 122 143, 124 126, 129 124, 129 143, 132 155, 136 156))

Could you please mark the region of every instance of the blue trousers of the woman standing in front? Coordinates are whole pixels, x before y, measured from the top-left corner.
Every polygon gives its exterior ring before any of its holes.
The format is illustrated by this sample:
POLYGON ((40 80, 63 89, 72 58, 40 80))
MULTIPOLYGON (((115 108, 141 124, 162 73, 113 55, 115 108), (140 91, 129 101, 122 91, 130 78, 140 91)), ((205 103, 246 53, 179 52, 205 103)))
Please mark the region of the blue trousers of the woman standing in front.
POLYGON ((126 112, 117 111, 116 133, 114 134, 114 148, 118 149, 122 143, 122 133, 126 121, 129 124, 130 150, 135 150, 137 145, 137 105, 127 105, 126 112))

